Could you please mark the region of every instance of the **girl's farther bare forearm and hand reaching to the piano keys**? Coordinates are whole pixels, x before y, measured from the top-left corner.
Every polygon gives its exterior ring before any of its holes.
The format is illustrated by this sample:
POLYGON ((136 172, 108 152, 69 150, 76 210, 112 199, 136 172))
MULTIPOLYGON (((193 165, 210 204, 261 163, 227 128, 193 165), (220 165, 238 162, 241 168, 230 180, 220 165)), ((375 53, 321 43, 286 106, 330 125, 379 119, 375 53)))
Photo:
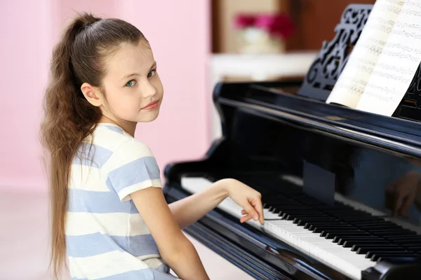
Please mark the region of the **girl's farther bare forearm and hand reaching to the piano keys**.
POLYGON ((260 193, 234 179, 217 181, 199 193, 169 204, 169 207, 178 226, 185 228, 213 210, 227 197, 231 197, 247 212, 247 215, 241 218, 241 223, 250 218, 263 223, 260 193))

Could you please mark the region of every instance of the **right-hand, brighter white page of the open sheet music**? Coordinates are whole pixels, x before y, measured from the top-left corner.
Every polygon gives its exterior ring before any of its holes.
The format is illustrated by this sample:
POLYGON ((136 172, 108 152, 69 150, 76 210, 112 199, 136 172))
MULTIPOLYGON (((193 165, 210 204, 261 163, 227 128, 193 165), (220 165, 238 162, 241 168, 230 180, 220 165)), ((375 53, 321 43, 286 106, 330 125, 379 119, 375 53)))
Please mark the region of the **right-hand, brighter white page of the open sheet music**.
POLYGON ((405 0, 356 109, 392 116, 421 62, 421 0, 405 0))

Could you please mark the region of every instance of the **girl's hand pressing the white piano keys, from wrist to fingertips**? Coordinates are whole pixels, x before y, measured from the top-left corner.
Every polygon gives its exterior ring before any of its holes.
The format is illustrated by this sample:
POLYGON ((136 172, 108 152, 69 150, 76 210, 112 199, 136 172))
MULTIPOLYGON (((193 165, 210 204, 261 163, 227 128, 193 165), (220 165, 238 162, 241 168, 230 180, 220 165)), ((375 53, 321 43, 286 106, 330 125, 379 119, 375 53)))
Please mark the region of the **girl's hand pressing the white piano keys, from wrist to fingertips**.
POLYGON ((254 221, 260 221, 263 225, 263 207, 262 207, 262 195, 253 188, 237 181, 235 179, 225 179, 225 188, 228 192, 229 197, 234 200, 236 204, 243 207, 241 214, 240 223, 253 218, 254 221))

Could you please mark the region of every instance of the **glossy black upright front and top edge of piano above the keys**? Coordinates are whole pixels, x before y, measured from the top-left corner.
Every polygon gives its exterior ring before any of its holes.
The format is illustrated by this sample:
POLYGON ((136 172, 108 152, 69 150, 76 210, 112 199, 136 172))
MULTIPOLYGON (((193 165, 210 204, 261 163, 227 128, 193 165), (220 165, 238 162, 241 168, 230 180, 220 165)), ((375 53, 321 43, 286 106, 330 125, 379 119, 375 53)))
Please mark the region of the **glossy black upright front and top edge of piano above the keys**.
POLYGON ((385 215, 405 193, 410 206, 396 218, 421 230, 420 123, 262 92, 260 85, 235 86, 218 89, 223 122, 231 128, 224 168, 303 179, 310 162, 335 174, 335 193, 385 215))

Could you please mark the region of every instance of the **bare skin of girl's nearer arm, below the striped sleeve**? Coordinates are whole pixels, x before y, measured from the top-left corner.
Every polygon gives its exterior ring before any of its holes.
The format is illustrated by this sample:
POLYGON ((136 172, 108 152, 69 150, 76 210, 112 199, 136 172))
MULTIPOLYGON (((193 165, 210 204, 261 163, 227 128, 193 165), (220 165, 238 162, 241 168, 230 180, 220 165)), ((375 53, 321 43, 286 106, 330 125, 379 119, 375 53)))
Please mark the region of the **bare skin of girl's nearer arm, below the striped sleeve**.
POLYGON ((181 279, 209 279, 196 249, 173 218, 162 189, 150 187, 138 190, 131 194, 131 198, 166 264, 181 279))

